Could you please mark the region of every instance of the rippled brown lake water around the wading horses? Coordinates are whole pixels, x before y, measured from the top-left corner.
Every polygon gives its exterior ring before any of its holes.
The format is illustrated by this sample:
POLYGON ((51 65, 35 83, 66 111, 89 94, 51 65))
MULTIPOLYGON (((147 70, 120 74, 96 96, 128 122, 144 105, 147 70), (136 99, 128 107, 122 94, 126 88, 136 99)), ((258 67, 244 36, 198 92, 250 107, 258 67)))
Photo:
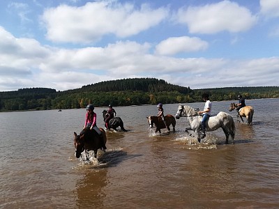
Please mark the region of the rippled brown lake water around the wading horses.
MULTIPOLYGON (((213 113, 236 122, 230 102, 212 102, 213 113)), ((85 109, 0 113, 0 208, 279 208, 278 102, 246 100, 253 123, 236 123, 235 144, 222 130, 193 143, 187 118, 155 134, 146 116, 156 105, 115 107, 128 132, 107 131, 98 163, 74 155, 85 109)), ((164 104, 165 114, 178 105, 164 104)))

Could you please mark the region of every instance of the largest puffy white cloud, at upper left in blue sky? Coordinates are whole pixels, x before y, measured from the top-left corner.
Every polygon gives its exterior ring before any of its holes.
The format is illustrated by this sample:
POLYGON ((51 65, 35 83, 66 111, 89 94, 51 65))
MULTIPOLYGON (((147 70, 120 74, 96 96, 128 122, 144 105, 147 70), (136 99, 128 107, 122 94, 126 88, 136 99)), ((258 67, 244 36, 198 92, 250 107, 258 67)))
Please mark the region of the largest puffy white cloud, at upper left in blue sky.
POLYGON ((54 42, 89 43, 107 34, 123 38, 156 26, 168 16, 167 8, 136 9, 130 3, 96 1, 81 7, 48 8, 42 16, 47 38, 54 42))

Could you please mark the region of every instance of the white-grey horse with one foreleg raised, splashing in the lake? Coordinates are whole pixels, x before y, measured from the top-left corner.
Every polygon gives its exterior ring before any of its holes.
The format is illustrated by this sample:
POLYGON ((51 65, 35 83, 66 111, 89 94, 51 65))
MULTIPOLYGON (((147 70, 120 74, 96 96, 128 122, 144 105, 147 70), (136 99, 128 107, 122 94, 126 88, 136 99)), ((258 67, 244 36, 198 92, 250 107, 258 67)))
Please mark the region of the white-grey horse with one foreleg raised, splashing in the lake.
MULTIPOLYGON (((179 109, 176 112, 176 119, 180 117, 187 117, 190 123, 190 130, 193 130, 197 134, 197 140, 200 142, 200 132, 201 132, 201 121, 202 116, 199 116, 198 112, 187 105, 179 105, 179 109)), ((211 132, 222 127, 226 135, 226 144, 229 143, 229 135, 232 137, 232 143, 234 143, 235 135, 235 125, 234 119, 230 114, 220 111, 216 116, 211 116, 208 121, 206 121, 206 131, 211 132)), ((188 130, 186 130, 188 131, 188 130)))

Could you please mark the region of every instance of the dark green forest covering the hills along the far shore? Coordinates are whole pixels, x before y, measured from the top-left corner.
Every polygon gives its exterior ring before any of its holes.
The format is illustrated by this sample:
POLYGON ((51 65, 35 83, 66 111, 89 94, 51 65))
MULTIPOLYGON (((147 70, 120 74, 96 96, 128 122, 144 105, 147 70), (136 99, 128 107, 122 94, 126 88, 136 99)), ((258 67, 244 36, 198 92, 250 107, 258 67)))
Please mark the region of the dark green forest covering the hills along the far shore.
POLYGON ((239 94, 248 100, 279 98, 279 86, 191 89, 156 78, 118 79, 67 91, 20 88, 0 92, 0 111, 78 109, 89 103, 107 107, 202 102, 202 93, 209 93, 211 101, 237 100, 239 94))

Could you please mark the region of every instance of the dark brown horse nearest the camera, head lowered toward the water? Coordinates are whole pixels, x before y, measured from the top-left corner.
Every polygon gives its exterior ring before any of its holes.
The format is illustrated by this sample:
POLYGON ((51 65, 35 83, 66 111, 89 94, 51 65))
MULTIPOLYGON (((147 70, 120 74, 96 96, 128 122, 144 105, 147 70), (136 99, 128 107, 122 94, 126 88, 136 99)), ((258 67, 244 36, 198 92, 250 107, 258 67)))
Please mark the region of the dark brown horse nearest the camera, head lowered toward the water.
POLYGON ((82 152, 85 150, 86 160, 89 160, 88 151, 93 150, 94 157, 97 158, 97 151, 102 148, 104 144, 107 143, 107 136, 105 130, 99 127, 100 132, 102 132, 103 139, 100 138, 99 134, 95 130, 83 130, 80 135, 74 132, 74 145, 75 145, 75 157, 80 158, 82 152))

